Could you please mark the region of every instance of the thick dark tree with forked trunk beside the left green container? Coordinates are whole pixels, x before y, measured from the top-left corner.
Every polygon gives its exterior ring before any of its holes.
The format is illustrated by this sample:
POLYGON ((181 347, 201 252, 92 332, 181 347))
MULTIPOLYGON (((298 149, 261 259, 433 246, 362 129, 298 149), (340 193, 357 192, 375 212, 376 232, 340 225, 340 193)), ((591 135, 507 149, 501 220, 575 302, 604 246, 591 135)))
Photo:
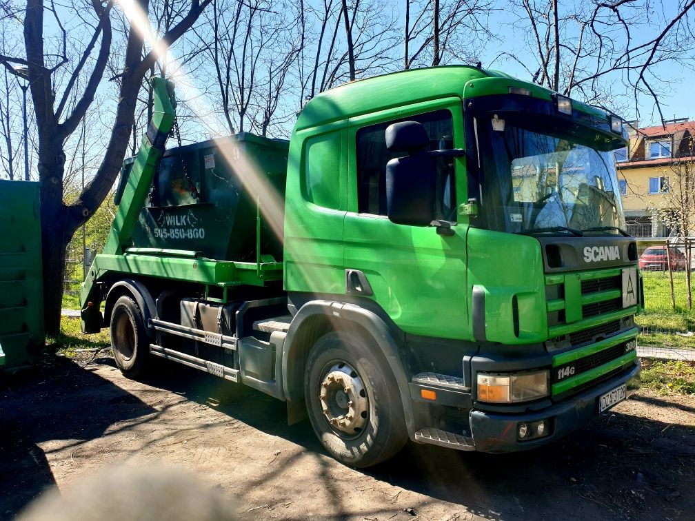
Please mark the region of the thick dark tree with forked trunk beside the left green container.
POLYGON ((58 333, 60 327, 60 281, 67 244, 76 229, 104 201, 120 171, 133 128, 142 78, 170 45, 195 23, 209 1, 191 0, 177 24, 159 37, 152 38, 149 2, 134 0, 122 4, 128 9, 130 28, 124 45, 123 67, 118 74, 118 103, 108 146, 95 175, 71 204, 66 204, 63 197, 64 144, 79 128, 104 80, 111 54, 114 2, 90 0, 89 3, 76 2, 63 6, 53 1, 27 0, 23 13, 24 53, 0 56, 0 63, 8 72, 14 72, 12 66, 15 64, 28 67, 38 132, 38 178, 42 181, 44 315, 49 335, 58 333), (45 15, 51 18, 50 24, 44 22, 45 15), (83 20, 83 23, 74 24, 76 18, 83 20), (55 28, 55 33, 44 34, 50 28, 55 28), (79 31, 79 36, 75 36, 74 31, 79 31), (85 34, 87 38, 83 38, 85 34), (79 51, 70 45, 75 41, 85 42, 79 51), (57 85, 56 77, 64 71, 68 71, 64 76, 66 80, 57 85), (79 78, 83 74, 87 80, 81 83, 79 78))

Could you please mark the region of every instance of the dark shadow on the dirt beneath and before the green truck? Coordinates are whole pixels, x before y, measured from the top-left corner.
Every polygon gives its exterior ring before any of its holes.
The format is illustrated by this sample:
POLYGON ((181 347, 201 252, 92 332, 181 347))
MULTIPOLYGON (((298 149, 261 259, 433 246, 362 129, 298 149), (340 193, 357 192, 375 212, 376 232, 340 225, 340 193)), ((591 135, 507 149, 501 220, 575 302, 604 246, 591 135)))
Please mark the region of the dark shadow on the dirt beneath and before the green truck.
MULTIPOLYGON (((178 365, 147 383, 211 406, 309 452, 325 454, 308 421, 288 426, 285 405, 261 392, 230 386, 178 365)), ((652 406, 695 411, 655 397, 637 398, 652 406)), ((316 463, 316 472, 328 474, 323 461, 316 463)), ((692 427, 612 413, 564 440, 530 452, 480 454, 409 443, 391 461, 361 472, 392 486, 464 505, 484 518, 562 514, 582 519, 655 519, 689 518, 695 511, 695 497, 690 493, 695 486, 694 467, 692 427), (578 508, 562 513, 559 504, 578 508)), ((262 485, 254 481, 247 488, 262 485)), ((330 486, 329 479, 325 486, 330 486)), ((340 497, 340 490, 335 497, 340 497)), ((346 508, 345 516, 349 513, 346 508)))

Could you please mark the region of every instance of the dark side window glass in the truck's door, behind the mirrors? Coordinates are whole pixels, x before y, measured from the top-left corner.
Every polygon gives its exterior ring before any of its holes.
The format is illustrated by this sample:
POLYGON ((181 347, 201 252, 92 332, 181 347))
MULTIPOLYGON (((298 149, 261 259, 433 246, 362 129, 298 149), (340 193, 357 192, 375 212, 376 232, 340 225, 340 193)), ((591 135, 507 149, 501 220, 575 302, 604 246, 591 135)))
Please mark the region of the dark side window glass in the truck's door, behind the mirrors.
MULTIPOLYGON (((357 211, 386 215, 386 163, 402 156, 386 149, 386 127, 401 121, 416 121, 425 126, 430 136, 430 150, 454 146, 453 119, 449 110, 437 110, 390 122, 366 126, 357 131, 357 211)), ((436 218, 455 220, 456 194, 454 158, 437 159, 436 218)))

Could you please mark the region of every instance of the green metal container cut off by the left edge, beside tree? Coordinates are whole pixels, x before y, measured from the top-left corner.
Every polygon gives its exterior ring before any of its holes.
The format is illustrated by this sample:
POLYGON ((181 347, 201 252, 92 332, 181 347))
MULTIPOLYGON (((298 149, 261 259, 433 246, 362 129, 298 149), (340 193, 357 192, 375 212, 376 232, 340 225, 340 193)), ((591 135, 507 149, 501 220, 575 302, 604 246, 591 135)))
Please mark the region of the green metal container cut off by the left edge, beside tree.
POLYGON ((29 365, 44 345, 39 188, 0 180, 0 370, 29 365))

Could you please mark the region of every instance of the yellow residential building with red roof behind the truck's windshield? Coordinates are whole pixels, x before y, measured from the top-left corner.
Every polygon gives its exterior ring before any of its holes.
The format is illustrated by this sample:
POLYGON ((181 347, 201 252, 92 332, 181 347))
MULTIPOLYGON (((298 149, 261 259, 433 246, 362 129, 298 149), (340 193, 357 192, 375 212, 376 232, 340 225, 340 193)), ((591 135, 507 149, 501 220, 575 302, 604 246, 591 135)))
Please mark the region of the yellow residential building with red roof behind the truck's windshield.
POLYGON ((695 122, 671 119, 664 126, 639 128, 626 123, 628 147, 615 151, 618 183, 628 231, 637 237, 667 237, 671 230, 657 213, 670 190, 669 174, 677 161, 695 160, 695 122))

